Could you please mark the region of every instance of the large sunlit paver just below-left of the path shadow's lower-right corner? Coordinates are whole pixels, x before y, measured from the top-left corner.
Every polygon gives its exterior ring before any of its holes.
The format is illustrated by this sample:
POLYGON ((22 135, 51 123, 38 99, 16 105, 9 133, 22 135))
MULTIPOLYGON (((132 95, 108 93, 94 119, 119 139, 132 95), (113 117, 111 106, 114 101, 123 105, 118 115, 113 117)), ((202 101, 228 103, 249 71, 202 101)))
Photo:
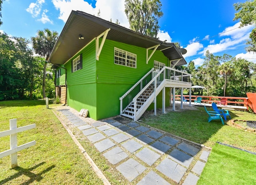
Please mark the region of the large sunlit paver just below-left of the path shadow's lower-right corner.
POLYGON ((165 158, 157 167, 167 177, 171 178, 175 182, 179 183, 183 175, 186 172, 186 168, 172 161, 171 159, 165 158))

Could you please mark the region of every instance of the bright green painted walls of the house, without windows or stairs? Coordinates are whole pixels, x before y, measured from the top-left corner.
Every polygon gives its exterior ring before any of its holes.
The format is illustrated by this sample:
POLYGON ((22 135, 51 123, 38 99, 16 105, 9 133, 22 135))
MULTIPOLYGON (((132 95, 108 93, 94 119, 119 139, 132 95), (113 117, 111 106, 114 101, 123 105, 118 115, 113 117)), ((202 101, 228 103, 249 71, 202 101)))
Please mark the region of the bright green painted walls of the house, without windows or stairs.
MULTIPOLYGON (((152 51, 150 50, 149 55, 152 51)), ((95 41, 65 64, 67 69, 67 103, 77 111, 88 109, 88 116, 99 120, 120 114, 120 100, 140 78, 154 67, 154 60, 168 66, 168 58, 156 51, 146 64, 146 49, 106 40, 99 61, 96 60, 95 41), (137 55, 136 68, 114 64, 114 47, 137 55), (82 53, 82 69, 71 72, 72 60, 82 53)), ((62 69, 64 72, 64 70, 62 69)), ((61 76, 61 78, 64 77, 61 76)), ((62 83, 61 78, 58 84, 62 83)), ((169 90, 166 88, 166 106, 169 90)), ((162 107, 162 92, 157 97, 157 107, 162 107)), ((150 106, 154 109, 154 104, 150 106)))

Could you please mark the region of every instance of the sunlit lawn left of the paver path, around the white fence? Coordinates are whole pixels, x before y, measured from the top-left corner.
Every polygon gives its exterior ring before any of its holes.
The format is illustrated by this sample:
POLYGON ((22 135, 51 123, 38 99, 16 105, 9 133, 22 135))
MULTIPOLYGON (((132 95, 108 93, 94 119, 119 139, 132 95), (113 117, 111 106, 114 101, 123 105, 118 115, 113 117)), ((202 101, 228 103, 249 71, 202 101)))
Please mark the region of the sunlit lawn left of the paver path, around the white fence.
MULTIPOLYGON (((18 167, 10 156, 0 159, 0 184, 103 184, 70 135, 45 101, 0 101, 0 131, 36 123, 36 128, 18 133, 18 145, 36 140, 36 145, 18 152, 18 167)), ((0 137, 0 152, 10 149, 10 136, 0 137)))

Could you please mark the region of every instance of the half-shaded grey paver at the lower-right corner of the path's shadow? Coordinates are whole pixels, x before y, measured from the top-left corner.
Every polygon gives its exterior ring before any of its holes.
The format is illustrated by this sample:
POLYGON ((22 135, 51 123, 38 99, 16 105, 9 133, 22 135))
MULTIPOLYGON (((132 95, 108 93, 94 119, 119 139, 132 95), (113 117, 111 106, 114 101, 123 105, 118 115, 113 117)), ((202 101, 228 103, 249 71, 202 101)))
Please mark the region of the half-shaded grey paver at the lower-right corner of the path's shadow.
POLYGON ((174 149, 169 155, 172 160, 180 163, 183 166, 189 167, 194 157, 179 151, 178 149, 174 149))

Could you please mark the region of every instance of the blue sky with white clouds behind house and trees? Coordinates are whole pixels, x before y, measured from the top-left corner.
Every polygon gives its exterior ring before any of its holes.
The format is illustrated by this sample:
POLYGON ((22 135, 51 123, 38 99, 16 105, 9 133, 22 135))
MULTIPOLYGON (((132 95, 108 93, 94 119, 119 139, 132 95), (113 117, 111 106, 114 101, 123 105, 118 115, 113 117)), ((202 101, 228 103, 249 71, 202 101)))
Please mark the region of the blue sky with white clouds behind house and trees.
MULTIPOLYGON (((62 31, 71 10, 98 14, 105 20, 119 20, 129 28, 124 13, 125 0, 5 0, 2 4, 0 32, 28 38, 37 30, 49 28, 62 31)), ((167 42, 179 42, 188 51, 184 58, 202 65, 207 50, 215 56, 230 54, 256 63, 256 54, 244 48, 253 26, 238 28, 233 21, 233 4, 246 0, 161 0, 164 16, 159 20, 158 37, 167 42)))

